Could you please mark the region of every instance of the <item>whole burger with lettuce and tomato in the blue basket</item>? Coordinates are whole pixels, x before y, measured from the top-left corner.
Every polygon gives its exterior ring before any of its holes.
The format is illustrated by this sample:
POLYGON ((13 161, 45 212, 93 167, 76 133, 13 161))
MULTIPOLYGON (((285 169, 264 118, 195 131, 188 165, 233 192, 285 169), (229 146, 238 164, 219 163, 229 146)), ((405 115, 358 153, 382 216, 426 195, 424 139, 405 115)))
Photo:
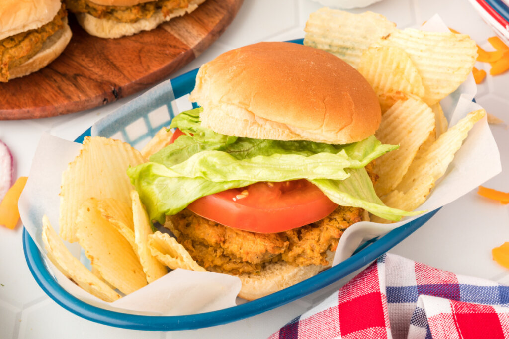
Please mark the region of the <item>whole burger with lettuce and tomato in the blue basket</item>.
POLYGON ((201 108, 174 118, 174 142, 128 174, 149 217, 207 270, 238 275, 240 297, 329 267, 367 211, 412 214, 373 190, 370 164, 397 146, 373 136, 377 96, 340 58, 292 43, 245 46, 203 65, 190 99, 201 108))

